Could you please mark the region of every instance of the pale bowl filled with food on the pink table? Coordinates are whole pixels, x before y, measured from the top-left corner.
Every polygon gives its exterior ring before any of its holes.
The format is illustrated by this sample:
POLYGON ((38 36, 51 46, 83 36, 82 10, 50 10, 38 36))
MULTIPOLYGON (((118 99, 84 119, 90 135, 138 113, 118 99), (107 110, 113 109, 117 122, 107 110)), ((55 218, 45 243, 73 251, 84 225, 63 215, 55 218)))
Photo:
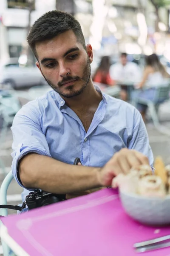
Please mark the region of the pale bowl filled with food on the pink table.
POLYGON ((150 166, 139 166, 127 175, 118 175, 112 183, 119 187, 125 212, 149 226, 170 224, 170 165, 165 167, 162 163, 157 157, 154 172, 150 166))

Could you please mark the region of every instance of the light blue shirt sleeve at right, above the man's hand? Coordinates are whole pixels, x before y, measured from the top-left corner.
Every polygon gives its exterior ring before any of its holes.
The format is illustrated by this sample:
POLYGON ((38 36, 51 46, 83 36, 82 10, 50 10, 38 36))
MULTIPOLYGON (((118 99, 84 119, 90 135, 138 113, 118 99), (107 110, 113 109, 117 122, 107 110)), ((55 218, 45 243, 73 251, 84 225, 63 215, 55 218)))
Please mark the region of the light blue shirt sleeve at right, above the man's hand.
POLYGON ((153 153, 149 145, 149 138, 142 116, 137 109, 134 111, 133 134, 129 138, 128 148, 135 149, 146 155, 149 159, 150 166, 153 165, 153 153))

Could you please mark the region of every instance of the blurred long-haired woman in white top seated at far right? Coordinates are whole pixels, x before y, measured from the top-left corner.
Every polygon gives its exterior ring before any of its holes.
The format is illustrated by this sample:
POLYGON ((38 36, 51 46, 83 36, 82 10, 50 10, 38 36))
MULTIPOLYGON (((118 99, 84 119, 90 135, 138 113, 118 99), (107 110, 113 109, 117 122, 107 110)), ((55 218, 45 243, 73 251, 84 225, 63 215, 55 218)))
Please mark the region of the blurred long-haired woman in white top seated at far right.
MULTIPOLYGON (((169 79, 170 75, 167 73, 165 67, 161 64, 158 56, 155 53, 149 56, 145 56, 145 68, 142 76, 142 81, 136 85, 136 89, 139 90, 134 91, 133 97, 139 96, 140 98, 153 101, 156 93, 156 87, 167 84, 167 82, 169 82, 169 79), (143 88, 146 84, 147 87, 149 87, 148 89, 143 88)), ((147 105, 138 104, 137 108, 142 114, 142 118, 145 122, 147 105)))

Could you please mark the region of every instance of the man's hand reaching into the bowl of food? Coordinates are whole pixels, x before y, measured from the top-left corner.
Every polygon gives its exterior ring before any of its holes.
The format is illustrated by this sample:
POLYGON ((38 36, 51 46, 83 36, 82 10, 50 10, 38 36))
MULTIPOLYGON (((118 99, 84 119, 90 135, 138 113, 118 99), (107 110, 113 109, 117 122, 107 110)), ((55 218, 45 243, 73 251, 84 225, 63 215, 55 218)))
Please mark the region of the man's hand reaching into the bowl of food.
POLYGON ((149 160, 144 154, 123 148, 99 170, 99 183, 101 186, 111 186, 113 178, 119 173, 127 174, 132 167, 135 168, 142 164, 149 165, 149 160))

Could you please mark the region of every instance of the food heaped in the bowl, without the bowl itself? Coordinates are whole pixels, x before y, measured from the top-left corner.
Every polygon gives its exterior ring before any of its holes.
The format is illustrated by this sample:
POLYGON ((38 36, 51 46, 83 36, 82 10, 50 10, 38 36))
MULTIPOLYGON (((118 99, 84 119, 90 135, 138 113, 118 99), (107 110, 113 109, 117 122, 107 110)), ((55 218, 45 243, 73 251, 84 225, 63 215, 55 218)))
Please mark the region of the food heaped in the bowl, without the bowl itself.
POLYGON ((113 179, 113 188, 146 197, 164 197, 170 194, 170 165, 164 166, 161 157, 156 157, 155 171, 147 165, 131 169, 127 175, 119 174, 113 179))

